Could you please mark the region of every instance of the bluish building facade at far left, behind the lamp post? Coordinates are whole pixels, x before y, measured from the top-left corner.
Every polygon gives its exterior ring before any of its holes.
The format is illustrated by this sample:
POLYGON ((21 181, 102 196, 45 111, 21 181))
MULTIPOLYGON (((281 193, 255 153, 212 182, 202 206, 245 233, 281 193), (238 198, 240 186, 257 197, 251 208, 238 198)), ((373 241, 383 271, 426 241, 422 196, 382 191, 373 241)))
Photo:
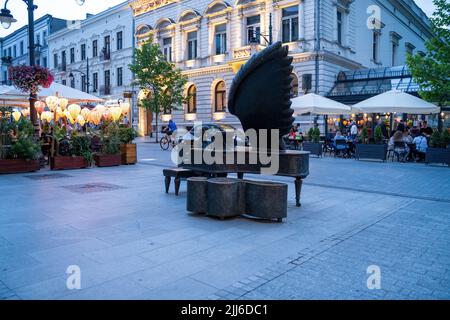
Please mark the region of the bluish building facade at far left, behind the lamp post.
MULTIPOLYGON (((35 64, 49 67, 48 37, 65 28, 67 21, 45 15, 35 21, 35 64)), ((29 64, 28 26, 24 26, 1 40, 1 82, 9 84, 8 67, 10 65, 29 64)))

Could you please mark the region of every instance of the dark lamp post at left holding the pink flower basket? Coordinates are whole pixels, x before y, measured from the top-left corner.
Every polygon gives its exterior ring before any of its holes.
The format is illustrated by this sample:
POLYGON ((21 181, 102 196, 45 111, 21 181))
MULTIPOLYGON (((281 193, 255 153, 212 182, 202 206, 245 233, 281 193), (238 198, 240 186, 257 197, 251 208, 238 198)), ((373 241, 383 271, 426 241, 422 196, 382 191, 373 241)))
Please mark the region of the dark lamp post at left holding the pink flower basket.
MULTIPOLYGON (((37 6, 34 4, 34 0, 22 0, 27 5, 28 10, 28 56, 29 56, 29 64, 30 66, 35 65, 35 44, 34 44, 34 10, 37 9, 37 6)), ((78 5, 82 6, 85 0, 75 0, 78 5)), ((4 8, 0 11, 0 23, 3 28, 9 29, 11 24, 17 22, 14 16, 11 14, 11 11, 8 10, 9 0, 5 1, 4 8)), ((37 112, 34 107, 34 103, 37 100, 36 94, 30 93, 30 119, 34 125, 34 134, 37 137, 39 135, 39 123, 37 121, 37 112)))

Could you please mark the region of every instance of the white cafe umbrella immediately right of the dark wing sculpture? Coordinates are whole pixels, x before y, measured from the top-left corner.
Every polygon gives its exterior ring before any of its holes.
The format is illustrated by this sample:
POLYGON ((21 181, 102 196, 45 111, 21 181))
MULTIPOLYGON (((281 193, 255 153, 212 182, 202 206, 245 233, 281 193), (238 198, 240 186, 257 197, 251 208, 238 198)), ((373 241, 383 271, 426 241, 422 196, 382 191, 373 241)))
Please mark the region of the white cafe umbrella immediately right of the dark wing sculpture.
POLYGON ((350 114, 352 109, 340 102, 322 97, 315 93, 308 93, 291 99, 294 114, 350 114))

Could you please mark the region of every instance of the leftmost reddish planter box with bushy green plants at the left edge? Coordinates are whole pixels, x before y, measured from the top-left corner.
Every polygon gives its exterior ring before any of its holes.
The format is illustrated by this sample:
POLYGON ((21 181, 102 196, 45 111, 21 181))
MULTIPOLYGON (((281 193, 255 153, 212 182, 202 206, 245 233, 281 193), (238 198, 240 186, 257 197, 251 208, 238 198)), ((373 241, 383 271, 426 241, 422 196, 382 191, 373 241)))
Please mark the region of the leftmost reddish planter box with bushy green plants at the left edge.
POLYGON ((0 173, 22 173, 39 170, 39 144, 33 138, 30 120, 17 123, 1 119, 0 122, 0 173))

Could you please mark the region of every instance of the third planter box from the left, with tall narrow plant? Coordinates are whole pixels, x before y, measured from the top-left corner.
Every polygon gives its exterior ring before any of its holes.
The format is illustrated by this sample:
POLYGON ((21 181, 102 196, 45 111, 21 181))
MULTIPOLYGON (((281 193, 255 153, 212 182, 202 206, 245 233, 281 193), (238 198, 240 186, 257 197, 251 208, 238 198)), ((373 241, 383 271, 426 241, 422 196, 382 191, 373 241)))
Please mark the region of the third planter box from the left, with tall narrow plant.
POLYGON ((101 152, 94 154, 97 167, 120 166, 122 156, 120 154, 119 127, 115 122, 105 124, 100 131, 101 152))

